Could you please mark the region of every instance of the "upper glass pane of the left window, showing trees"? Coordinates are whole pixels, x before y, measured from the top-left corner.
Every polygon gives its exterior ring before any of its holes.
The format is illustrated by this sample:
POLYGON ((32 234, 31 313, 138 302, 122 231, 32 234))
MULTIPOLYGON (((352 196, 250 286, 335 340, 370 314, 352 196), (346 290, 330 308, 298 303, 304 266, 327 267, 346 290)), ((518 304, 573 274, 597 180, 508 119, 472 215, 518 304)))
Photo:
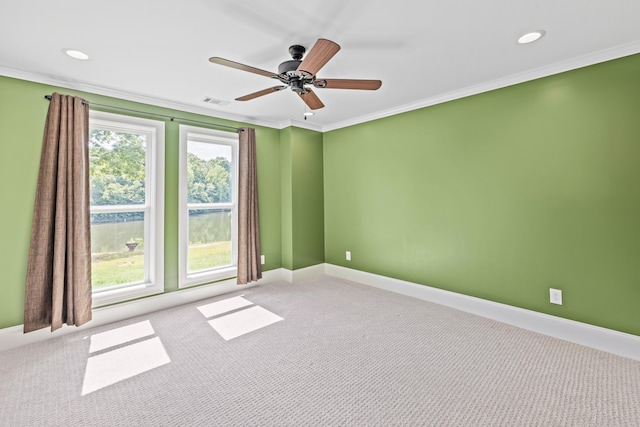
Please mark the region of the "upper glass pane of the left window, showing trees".
POLYGON ((91 129, 92 206, 145 203, 146 142, 144 134, 91 129))

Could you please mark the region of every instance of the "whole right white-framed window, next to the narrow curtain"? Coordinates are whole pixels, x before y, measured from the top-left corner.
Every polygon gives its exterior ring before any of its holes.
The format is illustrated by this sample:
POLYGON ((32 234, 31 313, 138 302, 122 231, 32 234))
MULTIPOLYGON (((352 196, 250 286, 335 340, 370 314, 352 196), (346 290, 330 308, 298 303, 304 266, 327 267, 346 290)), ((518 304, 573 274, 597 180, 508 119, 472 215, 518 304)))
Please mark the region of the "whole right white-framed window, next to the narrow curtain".
POLYGON ((238 134, 180 125, 180 287, 237 273, 238 134))

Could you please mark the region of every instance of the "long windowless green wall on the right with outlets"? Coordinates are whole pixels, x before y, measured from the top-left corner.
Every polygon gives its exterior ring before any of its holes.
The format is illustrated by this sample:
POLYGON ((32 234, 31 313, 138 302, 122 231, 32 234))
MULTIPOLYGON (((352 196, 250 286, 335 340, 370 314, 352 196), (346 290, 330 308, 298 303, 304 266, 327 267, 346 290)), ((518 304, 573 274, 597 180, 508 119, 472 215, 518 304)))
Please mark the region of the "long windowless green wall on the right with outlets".
POLYGON ((327 263, 640 335, 640 55, 327 132, 324 195, 327 263))

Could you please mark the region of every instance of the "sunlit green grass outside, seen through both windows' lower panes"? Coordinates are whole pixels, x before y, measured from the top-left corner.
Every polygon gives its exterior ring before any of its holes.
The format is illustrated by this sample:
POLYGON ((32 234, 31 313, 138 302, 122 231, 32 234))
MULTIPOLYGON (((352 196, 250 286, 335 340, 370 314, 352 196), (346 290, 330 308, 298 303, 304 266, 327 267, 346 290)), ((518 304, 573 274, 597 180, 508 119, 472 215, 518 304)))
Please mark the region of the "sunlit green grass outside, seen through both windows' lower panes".
MULTIPOLYGON (((231 242, 191 246, 189 271, 231 264, 231 242)), ((104 289, 144 279, 144 252, 107 252, 93 255, 91 283, 93 289, 104 289)))

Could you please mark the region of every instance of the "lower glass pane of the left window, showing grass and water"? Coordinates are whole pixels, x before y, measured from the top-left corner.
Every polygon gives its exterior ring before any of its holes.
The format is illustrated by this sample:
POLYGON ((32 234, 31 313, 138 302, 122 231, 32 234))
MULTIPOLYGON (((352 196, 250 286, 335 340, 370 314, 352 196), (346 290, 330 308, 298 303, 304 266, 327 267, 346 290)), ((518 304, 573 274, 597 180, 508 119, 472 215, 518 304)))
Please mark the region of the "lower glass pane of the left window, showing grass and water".
POLYGON ((93 290, 144 279, 144 213, 91 214, 93 290))

